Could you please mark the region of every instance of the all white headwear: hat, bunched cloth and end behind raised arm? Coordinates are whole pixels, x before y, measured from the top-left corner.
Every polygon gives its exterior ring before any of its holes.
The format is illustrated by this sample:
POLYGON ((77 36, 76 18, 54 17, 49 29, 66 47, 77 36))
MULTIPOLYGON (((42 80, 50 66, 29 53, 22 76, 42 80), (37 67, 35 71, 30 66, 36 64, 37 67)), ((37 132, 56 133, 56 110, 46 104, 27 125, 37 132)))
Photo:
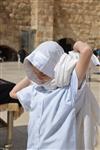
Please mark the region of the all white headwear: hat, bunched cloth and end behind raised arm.
MULTIPOLYGON (((92 55, 87 76, 95 68, 94 58, 94 55, 92 55)), ((48 89, 55 89, 69 85, 72 71, 78 60, 78 52, 71 51, 69 54, 66 54, 58 43, 47 41, 40 44, 26 57, 24 66, 29 79, 38 83, 36 75, 33 74, 32 65, 34 65, 41 72, 53 79, 43 86, 48 89)))

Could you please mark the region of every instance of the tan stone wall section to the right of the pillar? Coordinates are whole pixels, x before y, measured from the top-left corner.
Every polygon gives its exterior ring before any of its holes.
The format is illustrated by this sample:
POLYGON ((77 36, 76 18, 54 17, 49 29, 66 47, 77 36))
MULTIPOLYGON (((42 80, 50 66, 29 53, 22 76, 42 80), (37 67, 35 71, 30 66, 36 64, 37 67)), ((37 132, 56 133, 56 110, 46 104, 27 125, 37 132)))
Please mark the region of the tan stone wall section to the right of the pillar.
POLYGON ((54 18, 54 39, 69 37, 100 48, 99 0, 56 1, 54 18))

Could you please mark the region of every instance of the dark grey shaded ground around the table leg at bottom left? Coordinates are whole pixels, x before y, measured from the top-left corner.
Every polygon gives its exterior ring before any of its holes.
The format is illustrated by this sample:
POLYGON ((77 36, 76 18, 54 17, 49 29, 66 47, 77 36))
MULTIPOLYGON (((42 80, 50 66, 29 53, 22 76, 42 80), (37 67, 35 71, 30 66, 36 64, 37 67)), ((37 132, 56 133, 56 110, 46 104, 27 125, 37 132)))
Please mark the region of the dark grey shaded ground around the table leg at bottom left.
MULTIPOLYGON (((6 129, 0 129, 0 150, 6 144, 6 129)), ((16 126, 13 129, 13 143, 10 150, 25 150, 27 145, 27 126, 16 126)))

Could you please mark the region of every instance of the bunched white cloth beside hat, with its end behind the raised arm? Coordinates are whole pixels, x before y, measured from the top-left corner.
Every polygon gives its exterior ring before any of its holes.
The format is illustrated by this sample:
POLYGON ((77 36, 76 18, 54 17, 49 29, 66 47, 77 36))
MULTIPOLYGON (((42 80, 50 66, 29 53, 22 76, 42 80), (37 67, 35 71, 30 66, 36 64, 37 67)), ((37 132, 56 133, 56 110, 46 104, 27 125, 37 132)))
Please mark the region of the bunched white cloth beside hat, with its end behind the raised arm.
MULTIPOLYGON (((76 63, 79 61, 79 57, 79 53, 74 51, 69 52, 69 54, 64 53, 60 57, 60 60, 54 68, 55 76, 53 82, 55 82, 57 87, 69 85, 71 74, 76 66, 76 63)), ((87 74, 90 70, 93 70, 96 65, 97 63, 95 63, 95 56, 93 54, 87 74)))

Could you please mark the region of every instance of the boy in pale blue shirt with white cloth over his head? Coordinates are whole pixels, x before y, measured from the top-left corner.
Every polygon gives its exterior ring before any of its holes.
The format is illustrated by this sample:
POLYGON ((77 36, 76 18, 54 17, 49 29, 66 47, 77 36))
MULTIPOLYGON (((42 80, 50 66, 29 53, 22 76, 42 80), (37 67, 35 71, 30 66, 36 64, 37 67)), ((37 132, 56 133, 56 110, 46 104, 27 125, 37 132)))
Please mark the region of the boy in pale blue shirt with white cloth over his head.
POLYGON ((94 133, 91 137, 90 130, 89 134, 85 132, 87 127, 94 130, 88 108, 95 99, 85 82, 92 50, 81 41, 73 49, 80 53, 78 61, 65 54, 56 42, 47 41, 24 61, 27 77, 13 88, 10 96, 18 98, 30 112, 27 150, 94 147, 94 133), (89 97, 93 97, 91 101, 89 97))

